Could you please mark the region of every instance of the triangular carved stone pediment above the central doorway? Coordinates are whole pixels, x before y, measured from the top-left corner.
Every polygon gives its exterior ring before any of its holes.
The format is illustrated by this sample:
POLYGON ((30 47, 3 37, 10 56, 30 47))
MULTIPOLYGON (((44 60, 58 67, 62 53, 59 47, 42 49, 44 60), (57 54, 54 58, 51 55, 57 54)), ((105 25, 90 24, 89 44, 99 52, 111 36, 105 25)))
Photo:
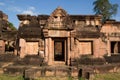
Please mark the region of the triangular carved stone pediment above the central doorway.
POLYGON ((50 29, 72 29, 72 21, 67 12, 58 7, 48 18, 46 27, 50 29))

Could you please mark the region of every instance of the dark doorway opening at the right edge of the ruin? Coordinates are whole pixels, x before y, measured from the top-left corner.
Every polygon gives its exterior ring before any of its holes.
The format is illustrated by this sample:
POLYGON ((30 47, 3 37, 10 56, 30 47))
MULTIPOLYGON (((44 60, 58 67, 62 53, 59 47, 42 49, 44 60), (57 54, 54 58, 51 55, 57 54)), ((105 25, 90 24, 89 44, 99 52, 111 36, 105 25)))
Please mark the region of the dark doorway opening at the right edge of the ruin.
POLYGON ((120 53, 120 42, 112 41, 111 42, 111 53, 120 53))

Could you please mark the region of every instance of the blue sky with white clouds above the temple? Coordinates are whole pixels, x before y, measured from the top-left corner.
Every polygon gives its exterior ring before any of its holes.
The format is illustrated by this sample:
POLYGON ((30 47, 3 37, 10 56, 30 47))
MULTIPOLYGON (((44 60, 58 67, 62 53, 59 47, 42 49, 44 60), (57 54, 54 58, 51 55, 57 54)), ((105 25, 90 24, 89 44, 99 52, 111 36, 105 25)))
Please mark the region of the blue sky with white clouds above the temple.
MULTIPOLYGON (((19 27, 18 14, 50 15, 57 7, 62 7, 68 14, 94 15, 95 0, 0 0, 0 10, 8 15, 8 20, 19 27)), ((110 0, 119 5, 118 13, 113 18, 120 21, 120 0, 110 0)))

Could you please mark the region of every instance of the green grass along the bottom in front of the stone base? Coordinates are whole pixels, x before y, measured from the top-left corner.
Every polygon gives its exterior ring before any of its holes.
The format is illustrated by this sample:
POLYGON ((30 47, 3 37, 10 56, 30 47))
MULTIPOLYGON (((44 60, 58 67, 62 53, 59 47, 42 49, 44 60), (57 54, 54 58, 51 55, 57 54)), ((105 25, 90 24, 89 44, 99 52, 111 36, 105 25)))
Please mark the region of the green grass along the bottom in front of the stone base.
MULTIPOLYGON (((0 80, 24 80, 22 76, 10 76, 7 74, 0 74, 0 80)), ((78 80, 71 77, 40 77, 36 80, 78 80)), ((85 80, 85 79, 79 79, 85 80)), ((120 80, 120 73, 96 74, 93 80, 120 80)))

